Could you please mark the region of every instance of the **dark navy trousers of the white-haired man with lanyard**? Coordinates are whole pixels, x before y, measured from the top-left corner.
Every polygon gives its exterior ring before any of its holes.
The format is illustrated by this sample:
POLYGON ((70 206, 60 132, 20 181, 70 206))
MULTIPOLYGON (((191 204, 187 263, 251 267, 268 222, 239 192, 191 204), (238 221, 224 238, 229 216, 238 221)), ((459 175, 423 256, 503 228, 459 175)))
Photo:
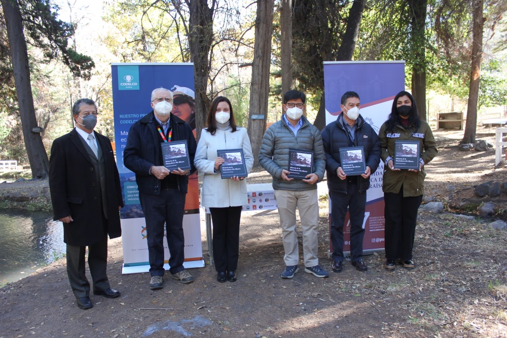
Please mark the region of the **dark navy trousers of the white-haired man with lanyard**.
POLYGON ((169 272, 175 274, 185 270, 185 235, 183 214, 185 198, 179 189, 164 189, 160 195, 139 193, 142 212, 146 220, 150 275, 164 275, 164 224, 169 247, 169 272))

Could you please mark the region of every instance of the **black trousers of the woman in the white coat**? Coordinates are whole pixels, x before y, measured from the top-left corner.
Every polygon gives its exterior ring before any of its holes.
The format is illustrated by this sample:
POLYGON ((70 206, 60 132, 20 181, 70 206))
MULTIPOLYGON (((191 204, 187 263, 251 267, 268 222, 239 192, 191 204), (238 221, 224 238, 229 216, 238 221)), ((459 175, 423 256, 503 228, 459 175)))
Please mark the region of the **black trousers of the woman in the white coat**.
POLYGON ((236 271, 241 206, 209 208, 213 222, 213 260, 217 272, 236 271))

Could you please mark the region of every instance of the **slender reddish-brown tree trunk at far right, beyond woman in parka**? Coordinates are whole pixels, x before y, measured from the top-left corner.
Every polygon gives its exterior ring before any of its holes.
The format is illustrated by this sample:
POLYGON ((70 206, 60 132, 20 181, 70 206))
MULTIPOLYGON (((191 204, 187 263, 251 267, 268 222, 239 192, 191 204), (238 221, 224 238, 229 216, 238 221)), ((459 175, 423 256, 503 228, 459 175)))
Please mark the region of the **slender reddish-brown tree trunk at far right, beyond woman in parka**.
POLYGON ((484 0, 474 1, 474 28, 472 38, 472 69, 466 108, 465 134, 461 143, 475 143, 477 130, 477 101, 479 100, 479 80, 481 78, 482 30, 484 28, 484 0))

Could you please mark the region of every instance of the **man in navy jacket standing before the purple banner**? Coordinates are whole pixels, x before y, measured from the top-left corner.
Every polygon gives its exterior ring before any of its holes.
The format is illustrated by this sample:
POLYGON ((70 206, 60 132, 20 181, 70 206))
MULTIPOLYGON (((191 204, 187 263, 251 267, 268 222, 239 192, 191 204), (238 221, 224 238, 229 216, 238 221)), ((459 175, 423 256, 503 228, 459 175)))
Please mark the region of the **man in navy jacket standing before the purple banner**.
POLYGON ((359 271, 367 271, 368 267, 363 261, 366 191, 370 187, 370 175, 378 168, 381 148, 377 133, 359 115, 359 95, 355 92, 346 92, 342 96, 341 103, 342 114, 321 133, 331 198, 332 269, 334 272, 342 271, 343 226, 348 208, 352 266, 359 271), (339 149, 350 146, 364 148, 366 170, 361 175, 346 175, 342 170, 339 149))

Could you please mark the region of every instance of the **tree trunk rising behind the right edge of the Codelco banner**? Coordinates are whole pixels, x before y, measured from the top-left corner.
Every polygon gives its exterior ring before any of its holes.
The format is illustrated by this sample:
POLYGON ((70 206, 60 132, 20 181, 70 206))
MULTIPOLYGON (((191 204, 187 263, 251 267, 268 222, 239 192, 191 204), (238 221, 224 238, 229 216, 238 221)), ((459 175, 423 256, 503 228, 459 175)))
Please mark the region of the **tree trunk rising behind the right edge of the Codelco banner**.
POLYGON ((209 110, 209 99, 207 96, 209 77, 209 50, 213 41, 213 11, 215 0, 208 8, 206 0, 187 0, 190 8, 189 20, 189 46, 190 59, 194 62, 194 83, 195 83, 195 121, 197 138, 201 135, 201 129, 206 125, 206 116, 209 110))

